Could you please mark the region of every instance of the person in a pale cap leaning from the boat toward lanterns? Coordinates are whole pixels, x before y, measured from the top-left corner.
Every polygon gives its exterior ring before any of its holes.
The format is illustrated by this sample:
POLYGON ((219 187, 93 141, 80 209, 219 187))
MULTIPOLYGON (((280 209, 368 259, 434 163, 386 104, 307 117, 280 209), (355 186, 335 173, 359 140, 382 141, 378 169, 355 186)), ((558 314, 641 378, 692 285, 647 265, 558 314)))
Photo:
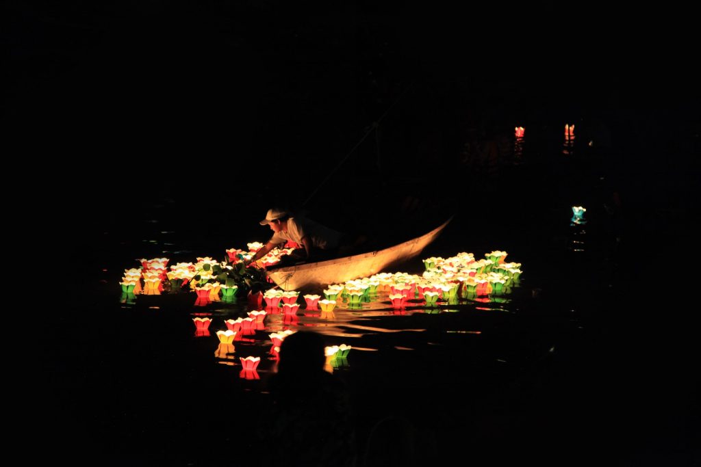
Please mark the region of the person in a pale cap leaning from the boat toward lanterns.
POLYGON ((254 254, 249 263, 259 260, 273 248, 283 246, 286 242, 297 243, 301 248, 289 257, 284 256, 276 267, 337 258, 343 256, 351 246, 348 244, 348 235, 306 217, 294 216, 285 209, 268 209, 268 214, 260 224, 270 226, 273 236, 254 254))

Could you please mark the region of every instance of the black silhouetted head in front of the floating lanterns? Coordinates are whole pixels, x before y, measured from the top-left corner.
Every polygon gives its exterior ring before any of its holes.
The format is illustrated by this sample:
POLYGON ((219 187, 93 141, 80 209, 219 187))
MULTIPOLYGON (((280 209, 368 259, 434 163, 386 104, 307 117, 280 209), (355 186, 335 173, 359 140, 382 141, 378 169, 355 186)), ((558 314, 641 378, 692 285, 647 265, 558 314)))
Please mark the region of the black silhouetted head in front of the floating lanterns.
POLYGON ((285 337, 280 346, 278 372, 311 373, 323 371, 326 357, 324 340, 318 333, 298 331, 285 337))

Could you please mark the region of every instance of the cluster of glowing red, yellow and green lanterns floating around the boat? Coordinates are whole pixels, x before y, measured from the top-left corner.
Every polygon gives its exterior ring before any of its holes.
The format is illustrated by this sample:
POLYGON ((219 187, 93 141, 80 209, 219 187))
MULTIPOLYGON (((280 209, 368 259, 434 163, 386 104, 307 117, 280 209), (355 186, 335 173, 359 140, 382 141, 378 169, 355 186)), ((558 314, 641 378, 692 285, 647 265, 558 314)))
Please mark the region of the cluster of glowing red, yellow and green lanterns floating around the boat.
MULTIPOLYGON (((575 217, 582 220, 585 209, 578 207, 573 212, 575 217), (578 215, 578 212, 581 214, 578 215)), ((574 218, 573 218, 574 222, 574 218)), ((240 250, 227 250, 229 257, 235 256, 243 260, 252 256, 261 244, 249 244, 251 253, 240 250)), ((335 310, 339 303, 345 304, 347 309, 362 309, 364 303, 376 300, 379 294, 386 294, 393 314, 403 314, 404 309, 413 304, 425 309, 426 312, 440 312, 439 302, 453 304, 460 298, 475 298, 475 300, 488 300, 489 295, 503 295, 509 293, 511 288, 519 286, 522 271, 520 263, 507 262, 508 253, 505 251, 491 251, 484 258, 475 258, 472 253, 458 253, 449 258, 431 257, 423 260, 424 271, 422 274, 409 274, 407 272, 380 273, 371 277, 346 281, 343 284, 330 284, 322 292, 323 295, 307 294, 300 297, 298 291, 280 291, 275 288, 265 293, 250 295, 252 305, 256 309, 248 312, 246 318, 226 319, 226 330, 217 330, 219 346, 215 351, 215 357, 220 363, 226 365, 240 364, 240 377, 244 379, 259 379, 257 372, 261 361, 259 356, 246 356, 236 359, 235 344, 239 341, 254 342, 256 331, 265 330, 265 320, 268 316, 278 314, 283 317, 283 324, 297 324, 300 305, 305 306, 305 316, 313 316, 319 319, 334 319, 335 310), (301 300, 304 300, 302 302, 301 300)), ((123 293, 158 294, 163 291, 162 281, 168 279, 171 283, 179 281, 178 286, 189 284, 189 288, 197 294, 196 304, 202 305, 212 301, 222 300, 236 295, 236 286, 229 287, 224 284, 211 282, 211 267, 205 270, 205 265, 214 266, 217 263, 212 258, 197 258, 197 263, 178 263, 168 270, 167 258, 154 260, 142 259, 142 267, 125 270, 121 281, 123 293), (209 274, 207 274, 209 273, 209 274), (200 279, 195 280, 196 274, 200 279), (143 281, 143 286, 142 286, 143 281)), ((233 261, 232 261, 233 262, 233 261)), ((226 263, 222 267, 226 267, 226 263)), ((231 267, 231 266, 229 266, 231 267)), ((197 337, 210 336, 210 316, 196 316, 193 318, 197 337)), ((287 329, 278 333, 270 333, 271 348, 268 358, 279 358, 280 345, 285 337, 294 331, 287 329)), ((348 352, 351 346, 340 344, 326 347, 325 368, 333 371, 348 365, 348 352)))

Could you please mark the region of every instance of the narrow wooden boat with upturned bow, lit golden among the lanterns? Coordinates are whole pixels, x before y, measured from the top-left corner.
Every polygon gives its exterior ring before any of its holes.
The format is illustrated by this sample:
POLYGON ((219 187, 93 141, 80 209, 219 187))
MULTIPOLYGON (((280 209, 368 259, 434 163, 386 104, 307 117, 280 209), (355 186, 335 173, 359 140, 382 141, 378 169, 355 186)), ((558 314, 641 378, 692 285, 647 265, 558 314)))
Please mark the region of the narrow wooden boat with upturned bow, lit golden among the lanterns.
POLYGON ((284 291, 318 290, 329 284, 372 276, 417 256, 440 235, 451 219, 421 237, 386 249, 318 263, 280 267, 266 274, 284 291))

